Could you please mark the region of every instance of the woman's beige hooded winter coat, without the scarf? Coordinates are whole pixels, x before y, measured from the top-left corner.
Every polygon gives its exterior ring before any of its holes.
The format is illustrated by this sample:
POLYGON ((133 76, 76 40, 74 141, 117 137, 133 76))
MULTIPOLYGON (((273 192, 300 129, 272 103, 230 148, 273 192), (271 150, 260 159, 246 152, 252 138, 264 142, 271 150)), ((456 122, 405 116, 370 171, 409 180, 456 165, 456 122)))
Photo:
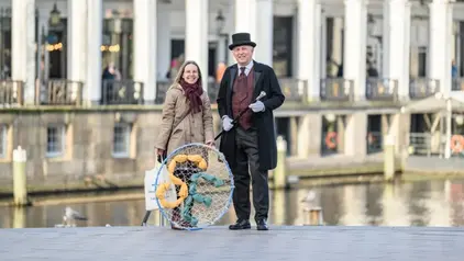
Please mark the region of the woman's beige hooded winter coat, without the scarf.
POLYGON ((189 101, 184 95, 180 84, 173 84, 167 90, 155 148, 166 150, 169 155, 173 150, 190 143, 206 144, 214 140, 211 103, 206 92, 201 94, 201 101, 203 104, 201 112, 196 114, 190 112, 179 122, 189 109, 189 101), (173 129, 177 123, 179 124, 173 129))

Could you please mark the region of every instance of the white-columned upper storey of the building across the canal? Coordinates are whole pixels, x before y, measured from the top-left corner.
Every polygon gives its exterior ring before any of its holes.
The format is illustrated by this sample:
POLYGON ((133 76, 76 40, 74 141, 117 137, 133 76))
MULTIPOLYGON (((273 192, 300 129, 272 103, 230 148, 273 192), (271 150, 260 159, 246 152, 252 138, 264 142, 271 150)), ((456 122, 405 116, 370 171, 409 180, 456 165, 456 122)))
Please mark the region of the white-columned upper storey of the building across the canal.
POLYGON ((0 8, 1 77, 23 84, 29 104, 49 103, 62 89, 62 102, 162 103, 185 59, 208 72, 203 86, 214 93, 218 64, 233 63, 230 35, 243 31, 257 43, 255 58, 309 101, 420 98, 461 89, 464 72, 460 1, 0 0, 0 8), (118 73, 106 77, 112 64, 118 73), (121 86, 130 99, 117 99, 121 86))

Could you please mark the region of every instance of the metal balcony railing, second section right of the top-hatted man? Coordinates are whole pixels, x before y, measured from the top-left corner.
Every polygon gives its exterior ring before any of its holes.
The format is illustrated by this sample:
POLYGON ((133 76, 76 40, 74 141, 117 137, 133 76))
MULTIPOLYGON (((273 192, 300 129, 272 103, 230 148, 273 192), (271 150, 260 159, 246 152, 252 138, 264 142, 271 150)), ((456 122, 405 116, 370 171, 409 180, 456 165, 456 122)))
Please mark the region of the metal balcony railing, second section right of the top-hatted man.
POLYGON ((325 101, 350 101, 353 98, 353 80, 343 78, 321 79, 321 100, 325 101))

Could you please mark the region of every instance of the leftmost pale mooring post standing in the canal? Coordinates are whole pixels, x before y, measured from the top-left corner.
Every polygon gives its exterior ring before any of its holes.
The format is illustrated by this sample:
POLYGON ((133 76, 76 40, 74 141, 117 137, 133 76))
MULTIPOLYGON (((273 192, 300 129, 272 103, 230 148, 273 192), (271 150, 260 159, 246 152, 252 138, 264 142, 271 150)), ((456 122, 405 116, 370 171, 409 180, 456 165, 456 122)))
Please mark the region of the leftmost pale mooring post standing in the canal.
POLYGON ((27 202, 27 177, 25 174, 25 150, 18 146, 13 150, 13 194, 14 205, 25 206, 27 202))

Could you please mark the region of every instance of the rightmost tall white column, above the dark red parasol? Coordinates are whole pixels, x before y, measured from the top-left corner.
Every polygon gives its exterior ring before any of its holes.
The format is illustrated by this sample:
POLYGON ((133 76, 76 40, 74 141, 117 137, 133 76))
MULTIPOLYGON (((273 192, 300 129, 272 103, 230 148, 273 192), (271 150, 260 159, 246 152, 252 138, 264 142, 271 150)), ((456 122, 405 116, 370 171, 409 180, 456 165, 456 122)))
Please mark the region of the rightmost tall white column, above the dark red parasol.
POLYGON ((451 46, 453 36, 452 5, 448 0, 433 0, 430 12, 430 78, 440 80, 440 90, 451 91, 451 46))

